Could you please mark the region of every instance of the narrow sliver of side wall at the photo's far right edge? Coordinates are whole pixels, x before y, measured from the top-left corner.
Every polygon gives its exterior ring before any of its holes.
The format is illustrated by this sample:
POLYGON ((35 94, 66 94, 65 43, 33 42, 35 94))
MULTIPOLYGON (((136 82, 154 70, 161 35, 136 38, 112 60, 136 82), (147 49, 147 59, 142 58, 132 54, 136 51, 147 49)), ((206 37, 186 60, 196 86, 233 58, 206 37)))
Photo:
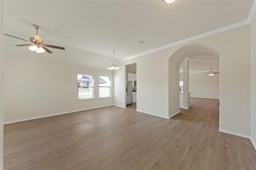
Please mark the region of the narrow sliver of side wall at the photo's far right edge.
POLYGON ((251 21, 251 142, 256 148, 256 15, 251 21))

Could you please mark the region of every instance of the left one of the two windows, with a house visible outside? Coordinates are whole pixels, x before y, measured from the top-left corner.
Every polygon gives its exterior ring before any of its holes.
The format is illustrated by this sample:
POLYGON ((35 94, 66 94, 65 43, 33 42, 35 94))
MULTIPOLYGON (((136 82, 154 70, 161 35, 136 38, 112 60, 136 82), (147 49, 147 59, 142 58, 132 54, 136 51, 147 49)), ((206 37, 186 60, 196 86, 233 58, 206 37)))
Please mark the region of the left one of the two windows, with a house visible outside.
POLYGON ((93 76, 77 74, 77 98, 93 99, 93 76))

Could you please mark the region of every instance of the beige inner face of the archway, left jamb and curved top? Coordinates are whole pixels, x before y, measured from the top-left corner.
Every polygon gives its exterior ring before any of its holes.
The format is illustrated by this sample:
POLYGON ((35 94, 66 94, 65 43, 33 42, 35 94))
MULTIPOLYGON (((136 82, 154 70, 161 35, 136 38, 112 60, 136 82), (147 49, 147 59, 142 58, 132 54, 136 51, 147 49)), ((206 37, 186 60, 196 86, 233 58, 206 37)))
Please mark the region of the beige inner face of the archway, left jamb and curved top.
POLYGON ((169 117, 175 116, 180 113, 180 94, 179 94, 179 81, 180 81, 180 63, 189 56, 196 54, 212 54, 220 56, 219 50, 214 46, 201 43, 192 43, 184 45, 177 49, 172 54, 168 61, 168 88, 169 88, 169 117))

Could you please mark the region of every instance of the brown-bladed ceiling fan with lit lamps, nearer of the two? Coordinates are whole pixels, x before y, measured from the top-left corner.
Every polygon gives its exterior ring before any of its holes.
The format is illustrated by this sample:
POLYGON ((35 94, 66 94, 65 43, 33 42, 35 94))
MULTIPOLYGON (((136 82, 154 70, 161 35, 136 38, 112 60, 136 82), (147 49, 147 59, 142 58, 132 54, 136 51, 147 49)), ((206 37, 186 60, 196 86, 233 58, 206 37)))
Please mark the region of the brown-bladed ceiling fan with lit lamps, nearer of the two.
POLYGON ((38 29, 40 28, 39 25, 34 25, 34 27, 36 29, 36 35, 34 37, 30 37, 29 41, 25 40, 25 39, 21 39, 19 37, 12 36, 12 35, 7 35, 6 33, 4 33, 4 35, 13 37, 15 39, 20 39, 23 41, 30 42, 30 44, 19 44, 19 45, 15 45, 15 46, 30 46, 30 47, 28 47, 28 49, 30 49, 32 52, 35 51, 36 53, 44 53, 44 52, 52 53, 52 51, 46 47, 65 50, 65 48, 61 47, 61 46, 44 44, 43 37, 38 35, 38 29))

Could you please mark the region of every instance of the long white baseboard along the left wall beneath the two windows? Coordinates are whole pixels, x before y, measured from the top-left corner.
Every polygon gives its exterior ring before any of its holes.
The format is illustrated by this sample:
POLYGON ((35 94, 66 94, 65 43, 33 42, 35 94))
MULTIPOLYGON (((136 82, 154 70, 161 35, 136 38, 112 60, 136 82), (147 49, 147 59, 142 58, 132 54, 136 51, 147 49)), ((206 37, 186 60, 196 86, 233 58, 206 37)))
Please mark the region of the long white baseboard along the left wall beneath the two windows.
POLYGON ((94 108, 81 109, 81 110, 76 110, 76 111, 63 112, 63 113, 47 114, 45 116, 38 116, 38 117, 32 117, 32 118, 24 118, 24 119, 15 120, 15 121, 7 121, 7 122, 4 122, 3 124, 4 125, 13 124, 13 123, 16 123, 16 122, 23 122, 23 121, 28 121, 28 120, 34 120, 34 119, 37 119, 37 118, 51 117, 51 116, 57 116, 57 115, 60 115, 60 114, 68 114, 68 113, 75 113, 75 112, 81 112, 81 111, 88 111, 88 110, 92 110, 92 109, 105 108, 105 107, 110 107, 110 106, 113 106, 113 104, 104 105, 104 106, 101 106, 101 107, 94 107, 94 108))

